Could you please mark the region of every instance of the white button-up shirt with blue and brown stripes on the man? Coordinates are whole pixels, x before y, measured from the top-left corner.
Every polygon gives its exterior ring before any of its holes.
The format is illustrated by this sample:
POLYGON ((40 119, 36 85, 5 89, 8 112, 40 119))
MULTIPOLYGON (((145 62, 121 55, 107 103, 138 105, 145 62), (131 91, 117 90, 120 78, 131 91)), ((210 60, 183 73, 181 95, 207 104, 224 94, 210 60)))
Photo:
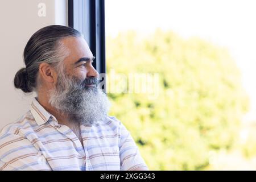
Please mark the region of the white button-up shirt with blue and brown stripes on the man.
POLYGON ((0 170, 133 170, 147 167, 133 138, 114 117, 80 125, 83 146, 34 98, 30 110, 0 131, 0 170))

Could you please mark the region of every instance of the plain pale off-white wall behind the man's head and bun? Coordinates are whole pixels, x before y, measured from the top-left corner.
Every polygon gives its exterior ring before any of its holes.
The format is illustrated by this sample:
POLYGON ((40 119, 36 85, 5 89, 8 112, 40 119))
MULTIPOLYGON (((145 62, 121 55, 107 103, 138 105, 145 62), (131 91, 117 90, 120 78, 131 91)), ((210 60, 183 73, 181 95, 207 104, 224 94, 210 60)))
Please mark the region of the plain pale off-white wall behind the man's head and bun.
POLYGON ((14 89, 13 80, 24 67, 22 54, 28 39, 50 24, 67 25, 67 0, 0 1, 0 129, 29 110, 33 95, 14 89), (39 3, 46 5, 46 16, 38 15, 39 3))

